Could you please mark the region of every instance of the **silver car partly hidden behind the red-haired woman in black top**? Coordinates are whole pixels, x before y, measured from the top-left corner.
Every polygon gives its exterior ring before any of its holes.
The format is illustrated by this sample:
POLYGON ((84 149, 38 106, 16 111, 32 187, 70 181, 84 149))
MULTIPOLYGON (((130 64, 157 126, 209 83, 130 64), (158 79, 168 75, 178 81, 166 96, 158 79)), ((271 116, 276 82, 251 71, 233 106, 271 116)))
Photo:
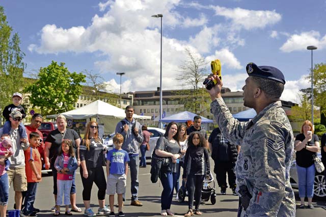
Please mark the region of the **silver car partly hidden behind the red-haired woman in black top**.
MULTIPOLYGON (((317 156, 320 158, 321 157, 320 153, 318 153, 317 156)), ((296 173, 295 159, 291 163, 290 183, 293 188, 298 188, 299 181, 298 181, 297 173, 296 173)), ((326 200, 326 184, 325 184, 324 172, 318 173, 316 171, 316 173, 315 173, 314 198, 326 200)))

